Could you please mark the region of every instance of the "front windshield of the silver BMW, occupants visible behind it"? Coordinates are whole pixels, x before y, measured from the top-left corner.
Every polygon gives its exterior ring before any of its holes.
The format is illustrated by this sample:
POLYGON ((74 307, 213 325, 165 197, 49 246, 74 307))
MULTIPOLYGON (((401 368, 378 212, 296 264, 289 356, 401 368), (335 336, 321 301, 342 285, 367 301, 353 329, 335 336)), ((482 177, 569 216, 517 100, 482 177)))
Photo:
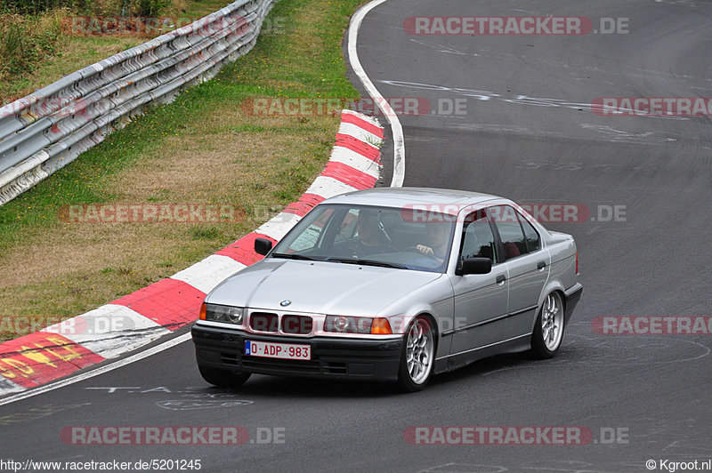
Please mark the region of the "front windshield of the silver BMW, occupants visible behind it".
POLYGON ((274 247, 271 257, 442 273, 455 220, 408 208, 318 205, 274 247))

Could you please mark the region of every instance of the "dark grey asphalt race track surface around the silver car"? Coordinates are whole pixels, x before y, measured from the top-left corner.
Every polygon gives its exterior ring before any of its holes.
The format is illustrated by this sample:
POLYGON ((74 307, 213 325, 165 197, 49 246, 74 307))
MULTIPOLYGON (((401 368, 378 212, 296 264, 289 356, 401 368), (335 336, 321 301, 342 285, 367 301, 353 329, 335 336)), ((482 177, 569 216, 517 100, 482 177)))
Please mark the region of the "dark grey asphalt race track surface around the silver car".
POLYGON ((590 105, 712 97, 710 20, 712 3, 699 0, 388 0, 361 26, 360 61, 379 92, 427 100, 433 111, 401 116, 405 185, 587 209, 582 221, 545 223, 576 238, 584 285, 559 357, 490 358, 407 396, 266 376, 230 391, 202 381, 188 341, 0 406, 2 456, 200 459, 204 471, 701 466, 712 459, 712 336, 603 335, 592 321, 712 315, 712 120, 599 116, 590 105), (546 15, 588 17, 594 28, 601 18, 627 19, 627 34, 417 36, 403 28, 409 16, 546 15), (61 432, 71 426, 241 426, 250 440, 69 445, 61 432), (404 434, 415 426, 579 426, 593 437, 587 445, 410 445, 404 434))

